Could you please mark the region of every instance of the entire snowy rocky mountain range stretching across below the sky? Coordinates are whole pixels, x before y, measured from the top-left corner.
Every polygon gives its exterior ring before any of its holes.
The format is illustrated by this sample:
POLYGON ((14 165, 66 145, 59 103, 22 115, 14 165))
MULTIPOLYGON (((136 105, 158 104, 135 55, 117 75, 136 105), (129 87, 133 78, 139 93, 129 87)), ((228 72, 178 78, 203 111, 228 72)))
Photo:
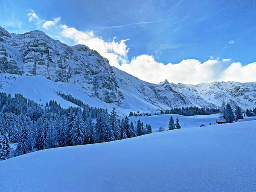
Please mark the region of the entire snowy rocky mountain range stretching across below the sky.
MULTIPOLYGON (((73 84, 91 97, 121 108, 216 108, 222 100, 241 108, 256 105, 256 83, 213 82, 198 85, 142 81, 115 67, 85 45, 72 47, 41 31, 10 34, 0 27, 0 73, 44 76, 73 84)), ((38 85, 40 88, 40 85, 38 85)))

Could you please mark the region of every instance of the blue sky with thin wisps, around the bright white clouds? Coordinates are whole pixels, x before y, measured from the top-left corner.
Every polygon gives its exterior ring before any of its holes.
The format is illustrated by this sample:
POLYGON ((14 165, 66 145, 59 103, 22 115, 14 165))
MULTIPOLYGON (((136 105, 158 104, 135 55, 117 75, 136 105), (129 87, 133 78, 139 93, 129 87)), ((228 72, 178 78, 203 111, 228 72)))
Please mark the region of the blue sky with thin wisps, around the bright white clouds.
MULTIPOLYGON (((127 64, 140 55, 152 55, 157 64, 214 60, 219 61, 218 73, 222 73, 233 62, 245 66, 256 61, 255 10, 253 0, 7 0, 0 6, 0 26, 14 33, 43 30, 68 45, 81 42, 63 35, 58 25, 65 25, 93 32, 93 37, 104 42, 114 37, 117 43, 128 39, 122 47, 126 53, 121 54, 127 64), (40 18, 40 25, 29 22, 30 9, 40 18), (56 26, 42 28, 57 17, 61 19, 56 26)), ((116 53, 112 48, 110 52, 116 53)), ((131 69, 126 71, 133 74, 131 69)))

